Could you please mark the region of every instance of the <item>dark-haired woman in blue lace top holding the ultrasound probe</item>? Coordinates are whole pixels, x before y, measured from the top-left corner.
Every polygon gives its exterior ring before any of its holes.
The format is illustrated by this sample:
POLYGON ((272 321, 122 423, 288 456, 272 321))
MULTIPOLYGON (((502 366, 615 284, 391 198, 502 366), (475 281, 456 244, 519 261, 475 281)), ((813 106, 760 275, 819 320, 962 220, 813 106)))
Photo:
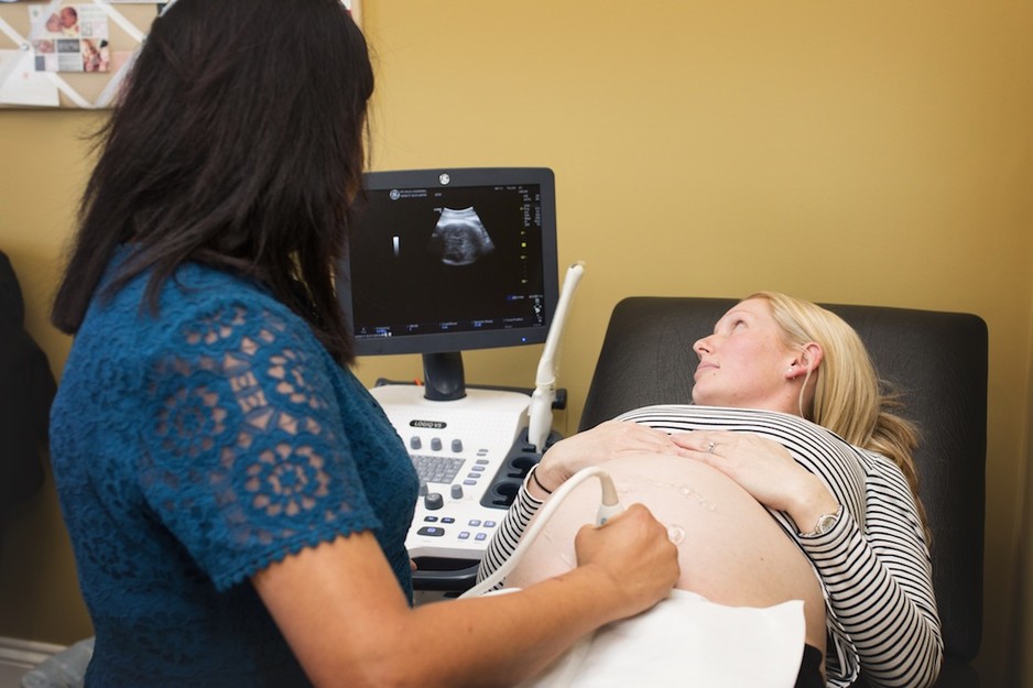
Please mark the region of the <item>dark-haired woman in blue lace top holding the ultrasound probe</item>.
POLYGON ((561 578, 411 607, 416 473, 333 283, 372 87, 339 0, 178 0, 99 133, 52 314, 88 687, 514 685, 677 579, 635 506, 561 578))

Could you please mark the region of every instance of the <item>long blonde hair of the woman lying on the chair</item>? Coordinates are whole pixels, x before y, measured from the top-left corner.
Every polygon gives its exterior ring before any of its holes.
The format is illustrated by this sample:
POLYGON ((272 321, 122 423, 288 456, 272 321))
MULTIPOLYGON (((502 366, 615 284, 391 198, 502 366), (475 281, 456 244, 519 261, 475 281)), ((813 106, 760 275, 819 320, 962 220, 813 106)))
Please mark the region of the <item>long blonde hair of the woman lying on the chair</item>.
POLYGON ((894 413, 901 404, 894 394, 885 391, 888 385, 879 379, 858 334, 836 314, 807 301, 778 292, 758 292, 747 298, 768 302, 790 347, 802 348, 812 341, 822 347, 822 362, 813 375, 808 372, 801 390, 801 415, 851 445, 881 454, 896 463, 907 479, 928 537, 913 456, 918 446, 918 430, 894 413), (804 390, 811 379, 814 379, 814 395, 807 401, 804 390))

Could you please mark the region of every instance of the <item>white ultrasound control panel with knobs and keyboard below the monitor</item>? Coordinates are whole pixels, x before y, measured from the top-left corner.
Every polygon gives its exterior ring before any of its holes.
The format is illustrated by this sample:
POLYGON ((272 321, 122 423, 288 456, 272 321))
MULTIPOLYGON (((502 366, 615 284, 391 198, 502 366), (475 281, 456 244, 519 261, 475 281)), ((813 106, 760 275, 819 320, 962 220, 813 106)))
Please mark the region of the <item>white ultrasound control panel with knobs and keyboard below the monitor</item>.
POLYGON ((417 590, 472 585, 491 536, 541 458, 526 440, 528 394, 466 392, 461 400, 437 402, 424 398, 418 385, 370 390, 420 474, 420 498, 405 540, 418 567, 417 590))

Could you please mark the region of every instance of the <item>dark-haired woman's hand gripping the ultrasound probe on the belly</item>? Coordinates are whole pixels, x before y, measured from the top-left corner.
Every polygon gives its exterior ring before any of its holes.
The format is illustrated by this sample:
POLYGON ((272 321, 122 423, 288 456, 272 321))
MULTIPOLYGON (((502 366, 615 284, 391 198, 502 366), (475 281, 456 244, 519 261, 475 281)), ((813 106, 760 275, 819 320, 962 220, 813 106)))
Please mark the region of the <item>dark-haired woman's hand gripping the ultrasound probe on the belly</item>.
MULTIPOLYGON (((600 596, 612 594, 623 619, 666 597, 681 575, 677 547, 667 528, 642 504, 631 504, 602 526, 585 526, 574 540, 577 563, 608 581, 600 596)), ((600 598, 609 599, 609 597, 600 598)))

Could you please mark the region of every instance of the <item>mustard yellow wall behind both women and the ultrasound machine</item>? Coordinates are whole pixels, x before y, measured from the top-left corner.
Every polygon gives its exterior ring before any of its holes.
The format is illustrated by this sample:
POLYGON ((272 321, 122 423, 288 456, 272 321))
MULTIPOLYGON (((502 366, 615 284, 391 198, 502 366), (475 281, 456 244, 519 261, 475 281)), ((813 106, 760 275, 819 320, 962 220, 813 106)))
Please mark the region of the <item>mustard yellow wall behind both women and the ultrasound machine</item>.
MULTIPOLYGON (((1033 6, 363 0, 363 21, 379 79, 374 167, 556 172, 561 263, 588 265, 563 346, 561 432, 576 426, 626 295, 774 288, 987 320, 979 663, 986 685, 1000 685, 1020 621, 1010 591, 1027 578, 1016 552, 1030 455, 1033 6)), ((91 121, 0 111, 0 245, 55 368, 67 341, 44 308, 87 166, 77 136, 91 121)), ((469 353, 467 376, 529 384, 540 351, 469 353)), ((370 384, 420 373, 414 357, 359 368, 370 384)), ((88 633, 50 492, 3 535, 0 635, 88 633)))

